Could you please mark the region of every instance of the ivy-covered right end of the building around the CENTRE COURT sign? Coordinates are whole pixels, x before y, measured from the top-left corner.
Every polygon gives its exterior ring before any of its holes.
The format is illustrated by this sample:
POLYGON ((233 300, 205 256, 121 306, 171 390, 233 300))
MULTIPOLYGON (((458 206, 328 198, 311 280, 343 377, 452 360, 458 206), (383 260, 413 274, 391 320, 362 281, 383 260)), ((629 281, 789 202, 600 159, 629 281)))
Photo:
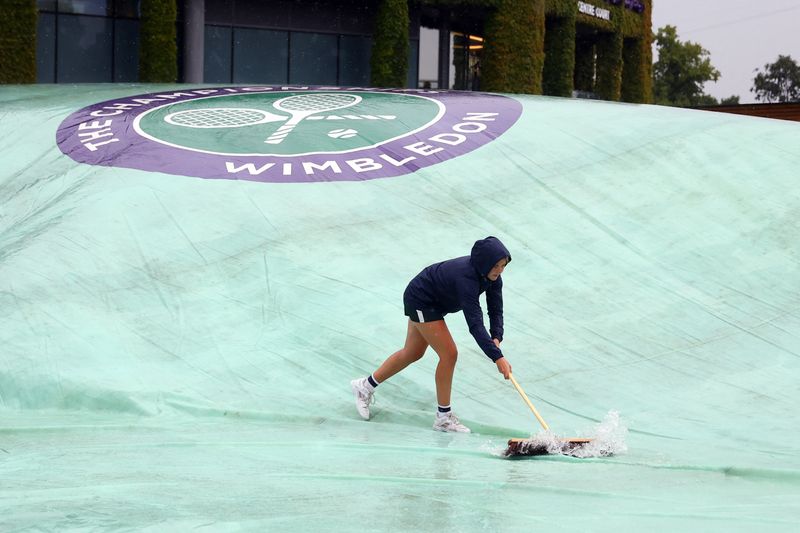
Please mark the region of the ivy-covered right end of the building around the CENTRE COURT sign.
MULTIPOLYGON (((414 0, 411 0, 414 1, 414 0)), ((483 30, 481 87, 488 91, 649 102, 652 3, 637 13, 624 2, 586 0, 610 20, 578 12, 577 0, 416 0, 448 9, 489 8, 483 30)))

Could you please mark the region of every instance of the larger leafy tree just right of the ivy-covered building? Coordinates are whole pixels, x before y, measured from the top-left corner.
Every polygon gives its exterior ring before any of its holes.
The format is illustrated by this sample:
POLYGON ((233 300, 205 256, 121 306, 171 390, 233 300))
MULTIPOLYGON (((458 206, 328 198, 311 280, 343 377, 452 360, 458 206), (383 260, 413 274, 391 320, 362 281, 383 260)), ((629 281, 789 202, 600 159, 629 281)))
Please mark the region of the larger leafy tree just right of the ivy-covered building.
POLYGON ((659 28, 654 39, 658 48, 658 61, 653 65, 655 103, 682 107, 707 104, 709 96, 703 92, 703 85, 720 77, 709 51, 697 43, 681 42, 675 26, 659 28))

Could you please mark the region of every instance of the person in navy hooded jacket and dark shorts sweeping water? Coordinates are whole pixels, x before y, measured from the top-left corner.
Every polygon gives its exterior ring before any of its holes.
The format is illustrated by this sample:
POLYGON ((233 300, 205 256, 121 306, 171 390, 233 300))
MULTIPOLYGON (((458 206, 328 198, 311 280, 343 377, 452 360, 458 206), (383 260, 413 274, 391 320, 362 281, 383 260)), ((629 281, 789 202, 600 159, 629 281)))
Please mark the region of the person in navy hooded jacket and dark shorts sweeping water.
POLYGON ((476 241, 470 255, 449 259, 426 267, 417 274, 403 293, 403 307, 408 317, 406 341, 378 369, 367 377, 354 379, 350 385, 358 414, 369 420, 369 406, 375 389, 411 363, 418 361, 431 346, 439 356, 436 366, 438 409, 433 429, 469 433, 450 406, 453 372, 458 349, 447 328, 448 313, 464 312, 469 332, 483 353, 509 379, 511 364, 503 356, 503 280, 501 274, 511 261, 511 254, 496 237, 476 241), (489 331, 483 322, 479 297, 486 293, 489 331))

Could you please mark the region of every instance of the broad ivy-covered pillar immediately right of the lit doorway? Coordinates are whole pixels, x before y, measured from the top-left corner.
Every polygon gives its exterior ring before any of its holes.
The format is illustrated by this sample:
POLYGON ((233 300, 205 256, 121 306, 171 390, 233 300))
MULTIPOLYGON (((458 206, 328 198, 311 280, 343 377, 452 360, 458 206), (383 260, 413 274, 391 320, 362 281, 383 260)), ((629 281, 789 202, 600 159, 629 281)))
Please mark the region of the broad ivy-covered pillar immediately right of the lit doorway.
POLYGON ((545 0, 500 0, 484 27, 484 90, 541 94, 545 0))

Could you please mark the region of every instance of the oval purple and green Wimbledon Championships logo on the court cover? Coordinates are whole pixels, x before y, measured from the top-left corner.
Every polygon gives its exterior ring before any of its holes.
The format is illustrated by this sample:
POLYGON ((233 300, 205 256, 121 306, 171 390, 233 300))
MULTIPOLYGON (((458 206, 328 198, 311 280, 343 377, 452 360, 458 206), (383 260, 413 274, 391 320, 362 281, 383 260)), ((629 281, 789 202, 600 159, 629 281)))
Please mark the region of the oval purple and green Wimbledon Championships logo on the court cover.
POLYGON ((79 163, 265 182, 369 180, 458 157, 502 135, 520 103, 493 94, 223 87, 101 102, 58 128, 79 163))

